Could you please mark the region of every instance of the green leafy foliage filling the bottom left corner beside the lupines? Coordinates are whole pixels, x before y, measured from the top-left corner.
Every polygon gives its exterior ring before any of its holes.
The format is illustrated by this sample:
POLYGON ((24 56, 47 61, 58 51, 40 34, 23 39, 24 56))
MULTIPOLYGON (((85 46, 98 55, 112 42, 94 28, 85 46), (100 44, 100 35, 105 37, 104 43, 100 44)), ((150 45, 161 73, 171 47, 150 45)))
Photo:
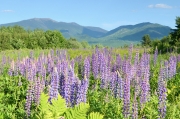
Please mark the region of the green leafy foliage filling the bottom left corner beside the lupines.
POLYGON ((21 76, 0 76, 0 117, 21 119, 25 117, 25 99, 28 82, 21 76), (23 85, 22 85, 23 84, 23 85))

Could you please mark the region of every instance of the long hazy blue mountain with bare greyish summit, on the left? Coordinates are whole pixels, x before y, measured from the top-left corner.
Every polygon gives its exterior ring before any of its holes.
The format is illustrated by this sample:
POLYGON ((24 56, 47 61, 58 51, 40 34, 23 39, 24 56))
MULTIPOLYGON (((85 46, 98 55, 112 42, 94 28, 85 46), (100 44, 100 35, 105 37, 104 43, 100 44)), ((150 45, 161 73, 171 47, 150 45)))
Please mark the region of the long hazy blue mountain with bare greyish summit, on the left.
POLYGON ((58 30, 64 37, 70 38, 78 35, 87 35, 93 38, 101 37, 107 31, 99 27, 85 27, 77 23, 57 22, 49 18, 33 18, 14 23, 1 24, 0 26, 19 25, 25 29, 58 30))

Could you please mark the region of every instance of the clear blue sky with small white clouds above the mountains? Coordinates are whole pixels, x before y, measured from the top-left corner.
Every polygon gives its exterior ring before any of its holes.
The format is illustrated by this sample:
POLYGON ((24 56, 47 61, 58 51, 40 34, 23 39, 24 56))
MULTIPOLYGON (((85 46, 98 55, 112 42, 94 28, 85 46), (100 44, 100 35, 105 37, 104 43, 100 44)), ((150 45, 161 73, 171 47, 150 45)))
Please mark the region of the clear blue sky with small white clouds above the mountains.
POLYGON ((0 0, 0 24, 51 18, 112 30, 141 22, 175 28, 179 0, 0 0))

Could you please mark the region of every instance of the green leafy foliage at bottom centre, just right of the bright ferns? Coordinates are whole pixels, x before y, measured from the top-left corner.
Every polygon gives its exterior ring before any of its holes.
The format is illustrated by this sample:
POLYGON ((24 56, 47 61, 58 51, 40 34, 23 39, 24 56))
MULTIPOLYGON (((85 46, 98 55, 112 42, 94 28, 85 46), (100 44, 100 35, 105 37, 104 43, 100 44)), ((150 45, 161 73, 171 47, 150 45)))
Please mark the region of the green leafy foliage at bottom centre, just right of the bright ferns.
POLYGON ((122 119, 122 101, 114 98, 110 92, 105 90, 89 91, 88 94, 90 112, 100 112, 104 119, 122 119))

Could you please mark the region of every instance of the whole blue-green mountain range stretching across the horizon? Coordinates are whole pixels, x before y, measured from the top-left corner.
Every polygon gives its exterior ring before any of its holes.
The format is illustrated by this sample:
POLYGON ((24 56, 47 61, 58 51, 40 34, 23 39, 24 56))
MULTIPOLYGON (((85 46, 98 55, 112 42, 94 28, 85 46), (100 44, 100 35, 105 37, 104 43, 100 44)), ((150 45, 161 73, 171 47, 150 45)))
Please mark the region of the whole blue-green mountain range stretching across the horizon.
POLYGON ((138 43, 145 34, 151 39, 160 39, 171 32, 168 26, 144 22, 136 25, 124 25, 107 31, 100 27, 82 26, 75 22, 57 22, 49 18, 33 18, 19 22, 1 24, 0 26, 19 25, 25 29, 58 30, 65 38, 76 38, 90 44, 103 44, 118 47, 129 43, 138 43))

